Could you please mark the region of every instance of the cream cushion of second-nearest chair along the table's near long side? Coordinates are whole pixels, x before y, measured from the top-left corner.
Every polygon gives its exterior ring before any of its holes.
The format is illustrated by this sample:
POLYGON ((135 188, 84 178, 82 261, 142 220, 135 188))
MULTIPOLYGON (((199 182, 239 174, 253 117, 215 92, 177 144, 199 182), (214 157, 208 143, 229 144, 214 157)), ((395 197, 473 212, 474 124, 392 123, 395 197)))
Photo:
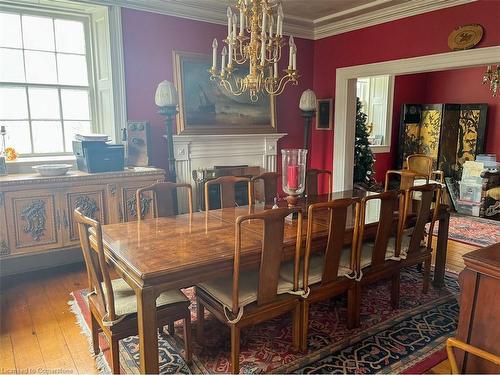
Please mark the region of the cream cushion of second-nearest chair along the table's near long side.
MULTIPOLYGON (((351 272, 349 267, 351 248, 345 248, 340 257, 338 276, 345 276, 351 272)), ((323 277, 324 254, 314 254, 309 260, 309 285, 321 282, 323 277)), ((283 280, 293 283, 293 261, 285 262, 281 266, 280 276, 283 280)), ((303 285, 303 263, 301 263, 299 271, 299 288, 303 285)))

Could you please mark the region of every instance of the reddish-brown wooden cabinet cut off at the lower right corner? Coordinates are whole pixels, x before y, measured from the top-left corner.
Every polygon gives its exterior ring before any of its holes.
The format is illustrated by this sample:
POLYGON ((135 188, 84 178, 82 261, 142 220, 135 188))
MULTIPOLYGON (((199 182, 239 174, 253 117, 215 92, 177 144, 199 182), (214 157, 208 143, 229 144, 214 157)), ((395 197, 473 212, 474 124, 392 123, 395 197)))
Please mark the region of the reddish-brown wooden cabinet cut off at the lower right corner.
MULTIPOLYGON (((457 338, 500 355, 500 243, 465 254, 464 262, 457 338)), ((500 366, 460 350, 456 357, 461 373, 500 373, 500 366)))

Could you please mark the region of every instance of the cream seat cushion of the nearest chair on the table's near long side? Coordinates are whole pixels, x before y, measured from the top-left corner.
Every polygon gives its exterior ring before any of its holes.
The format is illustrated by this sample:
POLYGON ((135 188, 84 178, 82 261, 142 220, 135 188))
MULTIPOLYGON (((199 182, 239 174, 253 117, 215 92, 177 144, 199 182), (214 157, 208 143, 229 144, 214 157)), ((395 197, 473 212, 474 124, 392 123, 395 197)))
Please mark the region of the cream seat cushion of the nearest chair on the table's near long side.
MULTIPOLYGON (((212 298, 227 307, 232 306, 233 277, 222 277, 196 285, 203 289, 212 298)), ((240 272, 238 304, 240 307, 247 306, 257 301, 257 291, 259 288, 259 271, 240 272)), ((278 294, 292 291, 293 285, 280 279, 278 281, 278 294)))

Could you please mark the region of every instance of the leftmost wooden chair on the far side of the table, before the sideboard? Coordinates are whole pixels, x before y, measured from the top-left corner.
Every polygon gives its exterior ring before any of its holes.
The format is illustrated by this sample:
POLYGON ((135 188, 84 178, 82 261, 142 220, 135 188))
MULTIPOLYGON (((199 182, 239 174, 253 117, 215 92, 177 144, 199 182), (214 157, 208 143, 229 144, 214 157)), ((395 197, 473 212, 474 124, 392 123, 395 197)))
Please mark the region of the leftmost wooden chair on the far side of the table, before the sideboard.
POLYGON ((177 195, 174 192, 177 189, 187 189, 188 192, 188 211, 193 213, 193 188, 190 184, 177 184, 174 182, 156 182, 150 186, 138 189, 135 193, 136 210, 138 212, 137 218, 140 220, 143 215, 141 212, 141 198, 146 192, 153 194, 153 217, 166 217, 176 215, 176 199, 177 195))

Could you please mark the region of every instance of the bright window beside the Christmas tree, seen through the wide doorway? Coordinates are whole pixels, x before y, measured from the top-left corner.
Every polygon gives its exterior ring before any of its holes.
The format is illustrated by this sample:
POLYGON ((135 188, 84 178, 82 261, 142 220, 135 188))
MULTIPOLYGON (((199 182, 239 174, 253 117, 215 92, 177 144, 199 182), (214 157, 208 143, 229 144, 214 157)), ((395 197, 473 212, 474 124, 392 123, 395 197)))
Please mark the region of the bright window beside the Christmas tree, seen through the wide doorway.
POLYGON ((369 141, 374 152, 388 152, 391 145, 392 76, 361 77, 357 79, 357 96, 367 115, 369 141))

